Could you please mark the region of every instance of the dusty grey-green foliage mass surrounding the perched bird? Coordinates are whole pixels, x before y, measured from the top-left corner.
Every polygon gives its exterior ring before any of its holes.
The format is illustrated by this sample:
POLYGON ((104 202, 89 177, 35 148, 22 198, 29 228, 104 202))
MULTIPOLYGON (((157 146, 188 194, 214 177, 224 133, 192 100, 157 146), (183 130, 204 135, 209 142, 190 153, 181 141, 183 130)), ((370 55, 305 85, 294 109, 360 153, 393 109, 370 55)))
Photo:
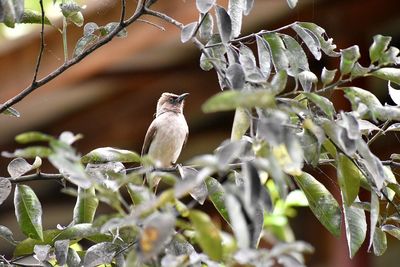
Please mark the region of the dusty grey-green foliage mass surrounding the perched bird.
MULTIPOLYGON (((391 170, 398 166, 399 156, 382 161, 370 145, 382 134, 399 130, 393 122, 400 120, 400 110, 382 105, 368 90, 351 84, 367 76, 386 80, 398 103, 391 84, 400 84, 400 70, 395 68, 399 49, 390 46, 390 37, 376 35, 369 49, 370 64, 365 67, 358 62, 364 56, 358 46, 337 50, 325 30, 310 22, 239 37, 242 17, 250 13, 253 2, 230 0, 225 8, 215 0, 197 0, 199 20, 181 26, 181 41, 194 41, 201 48, 200 67, 216 71, 222 90, 204 103, 203 110, 235 110, 231 140, 213 154, 199 155, 187 166, 160 170, 154 169, 151 159, 116 148, 96 148, 81 157, 72 146, 80 136, 70 132, 58 138, 39 132, 16 137, 27 147, 3 152, 13 160, 8 166, 10 177, 0 178, 0 204, 10 194, 11 183, 17 184, 16 217, 26 239, 16 241, 6 226, 0 226, 0 237, 15 246, 15 256, 33 254, 45 262, 54 254, 59 265, 68 266, 259 266, 260 262, 303 266, 303 254, 313 248, 295 241, 288 224, 299 206, 309 206, 335 236, 340 235, 343 220, 350 257, 365 239, 376 255, 386 250, 387 234, 399 239, 396 196, 400 185, 391 170), (256 47, 242 42, 248 39, 256 47), (323 57, 337 59, 338 67, 312 72, 309 61, 323 57), (350 111, 336 110, 333 91, 344 93, 350 111), (35 160, 30 164, 27 159, 35 160), (42 159, 59 173, 41 173, 42 159), (127 168, 127 163, 141 166, 127 168), (309 171, 321 165, 337 170, 341 199, 309 171), (35 174, 27 175, 30 172, 35 174), (143 183, 145 173, 162 177, 167 188, 153 192, 143 183), (76 206, 70 225, 42 229, 40 200, 28 185, 21 184, 29 177, 62 179, 71 186, 66 189, 76 196, 76 206), (362 191, 370 195, 369 202, 360 201, 362 191), (188 195, 193 198, 189 203, 183 200, 188 195), (193 208, 206 199, 230 232, 193 208), (115 214, 96 216, 99 201, 115 214), (370 214, 369 237, 366 212, 370 214), (267 233, 279 240, 271 249, 260 246, 261 240, 268 242, 267 233), (92 245, 77 245, 84 239, 92 245)), ((287 2, 291 8, 297 4, 287 2)), ((1 5, 1 21, 10 27, 21 22, 21 1, 2 1, 1 5)), ((66 22, 83 26, 76 3, 63 1, 61 10, 66 22)), ((120 25, 86 23, 74 57, 120 25)), ((175 21, 175 25, 180 24, 175 21)), ((125 32, 120 30, 123 37, 125 32)), ((18 112, 9 108, 4 114, 18 112)))

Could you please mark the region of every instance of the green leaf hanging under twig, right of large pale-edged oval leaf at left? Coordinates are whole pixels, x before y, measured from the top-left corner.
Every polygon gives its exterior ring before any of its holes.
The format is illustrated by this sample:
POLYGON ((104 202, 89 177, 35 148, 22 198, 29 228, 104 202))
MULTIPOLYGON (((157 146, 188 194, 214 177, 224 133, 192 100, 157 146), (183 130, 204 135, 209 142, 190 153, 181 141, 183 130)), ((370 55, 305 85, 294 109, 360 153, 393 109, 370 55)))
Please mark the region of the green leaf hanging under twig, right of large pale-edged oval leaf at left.
POLYGON ((93 222, 99 200, 94 187, 79 188, 74 208, 73 221, 75 224, 93 222))

